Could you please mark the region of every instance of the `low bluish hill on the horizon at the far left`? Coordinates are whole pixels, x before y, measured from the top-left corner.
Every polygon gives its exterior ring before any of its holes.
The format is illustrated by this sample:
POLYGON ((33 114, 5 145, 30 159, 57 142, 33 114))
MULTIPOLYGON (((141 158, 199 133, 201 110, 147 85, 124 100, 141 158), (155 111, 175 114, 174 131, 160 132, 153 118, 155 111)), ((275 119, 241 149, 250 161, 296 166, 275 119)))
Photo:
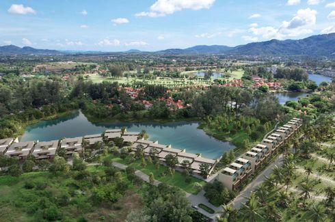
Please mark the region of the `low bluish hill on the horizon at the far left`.
POLYGON ((18 46, 0 46, 0 54, 10 55, 10 54, 61 54, 56 50, 49 49, 37 49, 29 46, 20 48, 18 46))

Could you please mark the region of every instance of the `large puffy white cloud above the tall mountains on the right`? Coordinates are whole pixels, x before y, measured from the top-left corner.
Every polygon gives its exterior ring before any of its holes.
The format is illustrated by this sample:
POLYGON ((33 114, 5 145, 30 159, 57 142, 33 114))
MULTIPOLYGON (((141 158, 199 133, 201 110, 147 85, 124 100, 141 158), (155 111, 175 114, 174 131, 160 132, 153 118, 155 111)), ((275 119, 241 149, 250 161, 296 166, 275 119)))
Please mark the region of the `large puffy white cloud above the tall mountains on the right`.
POLYGON ((261 36, 265 39, 283 39, 312 33, 311 28, 315 25, 316 21, 317 11, 306 8, 304 10, 298 10, 291 20, 284 20, 280 27, 251 27, 249 31, 253 33, 254 36, 261 36))

